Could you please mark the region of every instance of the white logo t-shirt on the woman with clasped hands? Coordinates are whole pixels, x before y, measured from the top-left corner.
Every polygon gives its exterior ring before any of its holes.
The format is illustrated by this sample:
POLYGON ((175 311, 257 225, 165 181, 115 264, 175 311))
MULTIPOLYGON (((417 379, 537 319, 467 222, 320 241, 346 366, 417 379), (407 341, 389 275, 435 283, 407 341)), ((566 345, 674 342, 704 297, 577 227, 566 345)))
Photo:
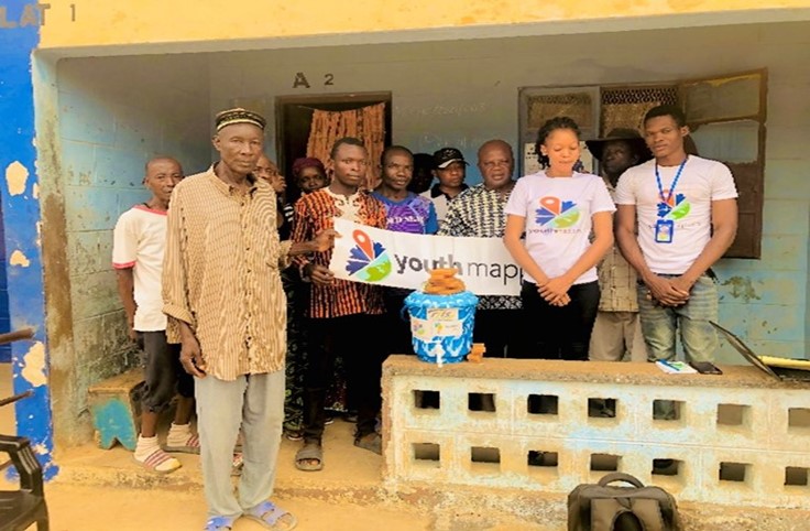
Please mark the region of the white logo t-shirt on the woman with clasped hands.
MULTIPOLYGON (((526 218, 526 249, 555 278, 571 269, 591 245, 591 216, 615 209, 602 177, 577 172, 570 177, 547 177, 546 172, 538 172, 517 180, 505 212, 526 218)), ((523 277, 537 283, 525 271, 523 277)), ((593 267, 574 284, 596 278, 593 267)))

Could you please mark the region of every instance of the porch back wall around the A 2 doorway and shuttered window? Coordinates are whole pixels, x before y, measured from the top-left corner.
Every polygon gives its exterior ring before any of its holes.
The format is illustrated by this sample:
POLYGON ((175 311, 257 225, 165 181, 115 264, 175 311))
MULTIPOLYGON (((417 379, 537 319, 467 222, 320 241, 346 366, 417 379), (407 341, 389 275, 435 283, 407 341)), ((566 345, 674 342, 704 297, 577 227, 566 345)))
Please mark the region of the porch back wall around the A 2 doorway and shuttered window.
MULTIPOLYGON (((211 58, 211 111, 234 101, 273 121, 274 97, 390 90, 393 141, 415 151, 515 143, 517 90, 691 79, 769 69, 762 260, 725 260, 721 322, 763 354, 804 357, 810 182, 806 98, 807 23, 635 31, 589 35, 333 46, 218 54, 211 58), (707 53, 735 50, 729 53, 707 53), (293 88, 304 73, 310 88, 293 88), (324 76, 333 85, 324 86, 324 76)), ((478 172, 471 169, 471 182, 478 172)), ((723 346, 723 361, 740 361, 723 346)))

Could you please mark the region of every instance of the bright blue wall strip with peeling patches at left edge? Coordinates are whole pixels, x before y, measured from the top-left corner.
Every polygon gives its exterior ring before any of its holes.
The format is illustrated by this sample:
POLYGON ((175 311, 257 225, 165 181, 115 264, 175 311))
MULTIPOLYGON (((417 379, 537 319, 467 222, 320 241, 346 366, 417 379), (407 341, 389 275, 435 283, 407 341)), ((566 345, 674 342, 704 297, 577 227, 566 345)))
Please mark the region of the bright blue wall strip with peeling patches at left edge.
MULTIPOLYGON (((21 17, 25 2, 3 2, 3 15, 21 17)), ((31 77, 31 53, 37 46, 35 24, 0 29, 0 72, 3 74, 0 95, 0 169, 2 214, 8 260, 8 294, 11 328, 31 327, 34 343, 12 345, 13 390, 32 391, 33 395, 17 402, 17 431, 29 437, 43 463, 45 477, 57 473, 53 464, 53 426, 51 388, 47 384, 48 359, 44 348, 45 301, 43 269, 37 242, 40 203, 33 193, 36 181, 34 149, 34 97, 31 77), (33 178, 32 178, 33 177, 33 178), (13 258, 13 262, 12 262, 13 258)))

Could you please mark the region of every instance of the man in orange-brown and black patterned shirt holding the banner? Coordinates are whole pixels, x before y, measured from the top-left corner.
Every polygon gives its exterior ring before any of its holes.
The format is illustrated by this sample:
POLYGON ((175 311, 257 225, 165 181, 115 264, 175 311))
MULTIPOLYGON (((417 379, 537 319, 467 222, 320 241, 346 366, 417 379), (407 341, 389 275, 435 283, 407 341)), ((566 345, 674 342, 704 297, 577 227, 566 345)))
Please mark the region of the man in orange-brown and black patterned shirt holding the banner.
MULTIPOLYGON (((293 241, 306 241, 320 230, 333 228, 336 217, 385 228, 385 207, 360 189, 368 163, 368 152, 360 140, 343 138, 335 142, 328 161, 332 182, 295 204, 293 241)), ((362 248, 373 246, 368 236, 358 232, 342 236, 352 238, 362 248)), ((311 281, 304 377, 304 445, 295 456, 295 466, 308 472, 324 467, 324 403, 338 354, 346 361, 349 391, 358 403, 354 445, 382 453, 382 440, 374 430, 382 402, 380 379, 385 358, 382 290, 373 284, 336 279, 329 271, 330 259, 330 250, 297 259, 302 277, 311 281)))

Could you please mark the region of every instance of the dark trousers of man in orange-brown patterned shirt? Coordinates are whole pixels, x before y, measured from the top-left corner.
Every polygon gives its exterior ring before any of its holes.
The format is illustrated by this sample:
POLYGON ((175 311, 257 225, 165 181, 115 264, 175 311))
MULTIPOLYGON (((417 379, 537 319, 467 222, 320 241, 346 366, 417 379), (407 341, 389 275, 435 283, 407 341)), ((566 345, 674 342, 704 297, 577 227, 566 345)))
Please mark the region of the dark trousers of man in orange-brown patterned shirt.
POLYGON ((304 440, 320 442, 326 415, 324 403, 329 379, 335 373, 335 357, 346 364, 349 393, 357 400, 357 437, 374 431, 382 404, 380 380, 384 348, 384 319, 381 315, 354 314, 308 319, 307 371, 304 379, 304 440))

